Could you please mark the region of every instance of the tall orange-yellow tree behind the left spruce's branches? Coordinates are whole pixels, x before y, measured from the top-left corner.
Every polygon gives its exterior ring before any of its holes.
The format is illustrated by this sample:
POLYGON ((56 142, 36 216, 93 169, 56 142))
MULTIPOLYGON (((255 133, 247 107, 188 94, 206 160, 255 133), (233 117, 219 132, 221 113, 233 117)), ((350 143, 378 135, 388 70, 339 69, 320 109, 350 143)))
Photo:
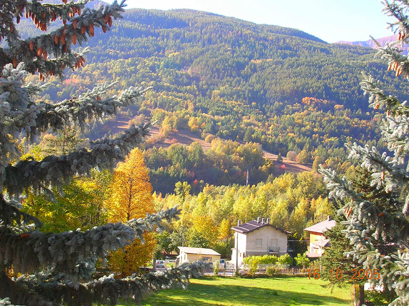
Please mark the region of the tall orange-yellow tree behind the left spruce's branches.
MULTIPOLYGON (((114 171, 112 197, 109 205, 110 221, 128 221, 145 217, 154 212, 152 186, 148 170, 143 162, 142 153, 134 149, 118 163, 114 171)), ((135 239, 131 245, 111 254, 108 265, 121 273, 121 277, 138 271, 151 259, 156 240, 152 233, 143 235, 144 243, 135 239)))

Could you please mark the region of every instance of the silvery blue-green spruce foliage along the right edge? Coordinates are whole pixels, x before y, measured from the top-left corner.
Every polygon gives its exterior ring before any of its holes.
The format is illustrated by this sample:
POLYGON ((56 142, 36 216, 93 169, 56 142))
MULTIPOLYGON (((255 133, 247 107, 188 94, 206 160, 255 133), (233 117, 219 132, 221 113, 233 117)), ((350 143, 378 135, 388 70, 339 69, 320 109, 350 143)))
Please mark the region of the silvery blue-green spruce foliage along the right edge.
MULTIPOLYGON (((384 1, 384 11, 396 18, 391 27, 398 33, 398 41, 380 47, 377 56, 388 62, 388 71, 402 78, 409 76, 409 60, 400 53, 402 44, 408 43, 409 3, 404 0, 384 1)), ((385 203, 372 200, 365 193, 354 190, 351 182, 324 170, 330 196, 344 200, 339 214, 345 216, 343 231, 353 250, 347 256, 363 264, 365 269, 379 269, 380 278, 371 282, 395 291, 397 298, 390 305, 409 304, 409 107, 396 96, 386 94, 372 76, 361 82, 364 93, 369 94, 369 106, 384 111, 381 140, 389 152, 379 152, 375 147, 346 144, 349 158, 357 159, 361 167, 371 174, 371 186, 376 186, 389 197, 385 203)), ((360 188, 364 190, 365 188, 360 188)), ((370 190, 369 188, 366 188, 370 190)))

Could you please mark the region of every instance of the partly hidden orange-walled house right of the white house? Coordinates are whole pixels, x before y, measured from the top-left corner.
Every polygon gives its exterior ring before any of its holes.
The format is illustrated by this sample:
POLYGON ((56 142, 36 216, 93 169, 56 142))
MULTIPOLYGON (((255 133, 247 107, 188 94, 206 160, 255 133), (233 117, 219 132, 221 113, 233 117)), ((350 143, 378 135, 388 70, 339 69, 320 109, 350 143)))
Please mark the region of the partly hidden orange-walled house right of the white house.
POLYGON ((324 253, 324 248, 330 246, 329 239, 325 236, 325 231, 331 229, 336 224, 335 220, 328 218, 322 222, 314 224, 304 230, 310 232, 310 247, 309 252, 307 252, 307 257, 318 258, 324 253))

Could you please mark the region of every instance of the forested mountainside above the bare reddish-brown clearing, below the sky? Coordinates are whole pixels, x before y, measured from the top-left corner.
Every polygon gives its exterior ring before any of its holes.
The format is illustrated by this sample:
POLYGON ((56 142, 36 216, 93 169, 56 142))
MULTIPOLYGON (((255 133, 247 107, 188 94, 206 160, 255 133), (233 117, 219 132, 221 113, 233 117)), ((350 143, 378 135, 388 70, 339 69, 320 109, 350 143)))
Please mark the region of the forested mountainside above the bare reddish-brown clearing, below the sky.
MULTIPOLYGON (((29 23, 20 23, 25 36, 34 33, 29 23)), ((309 161, 318 157, 332 166, 342 164, 344 142, 365 142, 377 125, 366 114, 361 72, 387 80, 386 92, 409 89, 385 74, 371 48, 212 13, 130 9, 111 32, 99 32, 87 66, 64 87, 56 81, 45 98, 79 94, 106 80, 153 86, 128 118, 142 113, 136 121, 157 120, 163 134, 212 133, 259 142, 275 154, 305 149, 309 161)), ((95 123, 90 135, 100 128, 95 123)))

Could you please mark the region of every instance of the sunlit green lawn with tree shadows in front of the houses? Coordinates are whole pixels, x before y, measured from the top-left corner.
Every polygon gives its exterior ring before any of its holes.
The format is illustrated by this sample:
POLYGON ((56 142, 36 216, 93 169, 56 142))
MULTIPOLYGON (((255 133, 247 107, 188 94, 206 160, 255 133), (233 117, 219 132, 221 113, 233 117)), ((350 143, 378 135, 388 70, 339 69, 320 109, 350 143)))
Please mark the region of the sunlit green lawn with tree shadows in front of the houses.
MULTIPOLYGON (((345 305, 351 302, 349 289, 322 288, 324 281, 308 277, 233 278, 204 276, 191 279, 187 290, 163 290, 142 301, 143 306, 206 305, 345 305)), ((135 306, 128 302, 123 306, 135 306)))

